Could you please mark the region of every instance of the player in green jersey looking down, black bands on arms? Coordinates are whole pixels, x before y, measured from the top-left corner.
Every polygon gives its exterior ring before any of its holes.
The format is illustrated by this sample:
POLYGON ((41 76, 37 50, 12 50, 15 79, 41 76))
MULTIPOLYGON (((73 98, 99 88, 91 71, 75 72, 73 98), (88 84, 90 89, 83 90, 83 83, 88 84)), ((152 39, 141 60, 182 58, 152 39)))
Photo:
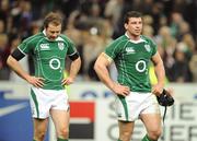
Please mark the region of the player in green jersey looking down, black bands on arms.
POLYGON ((34 121, 34 141, 43 141, 51 117, 57 141, 69 138, 69 102, 65 85, 73 83, 81 67, 74 44, 61 34, 62 19, 50 12, 44 20, 44 31, 22 42, 9 56, 7 63, 31 86, 31 108, 34 121), (35 74, 23 70, 19 60, 33 57, 35 74), (63 78, 66 57, 71 59, 68 78, 63 78))

